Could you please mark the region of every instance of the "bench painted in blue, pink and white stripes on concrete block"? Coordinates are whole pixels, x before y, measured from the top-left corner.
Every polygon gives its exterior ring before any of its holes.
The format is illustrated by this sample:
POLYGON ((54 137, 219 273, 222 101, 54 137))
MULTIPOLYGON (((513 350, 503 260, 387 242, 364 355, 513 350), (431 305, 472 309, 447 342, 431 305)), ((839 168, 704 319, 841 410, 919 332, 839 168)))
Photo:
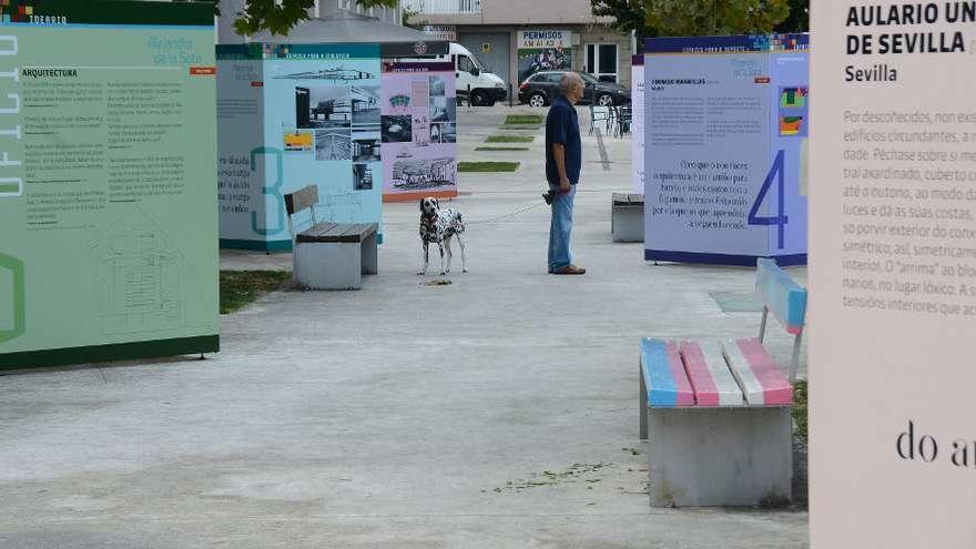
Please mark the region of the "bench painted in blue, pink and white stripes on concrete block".
POLYGON ((640 356, 640 437, 650 434, 652 507, 754 506, 792 498, 793 386, 763 347, 772 312, 794 336, 795 377, 806 291, 760 260, 764 304, 756 339, 645 338, 640 356))

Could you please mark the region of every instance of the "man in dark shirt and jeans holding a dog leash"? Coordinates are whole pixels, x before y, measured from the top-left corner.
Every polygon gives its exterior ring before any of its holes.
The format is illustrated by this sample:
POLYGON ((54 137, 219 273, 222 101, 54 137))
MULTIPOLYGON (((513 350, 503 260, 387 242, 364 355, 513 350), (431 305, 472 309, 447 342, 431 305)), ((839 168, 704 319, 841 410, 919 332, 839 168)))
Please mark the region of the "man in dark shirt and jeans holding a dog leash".
POLYGON ((562 96, 552 102, 546 119, 546 179, 552 200, 549 228, 549 273, 581 275, 586 268, 572 264, 569 238, 572 232, 572 203, 582 167, 582 142, 576 105, 583 96, 583 79, 567 72, 559 84, 562 96))

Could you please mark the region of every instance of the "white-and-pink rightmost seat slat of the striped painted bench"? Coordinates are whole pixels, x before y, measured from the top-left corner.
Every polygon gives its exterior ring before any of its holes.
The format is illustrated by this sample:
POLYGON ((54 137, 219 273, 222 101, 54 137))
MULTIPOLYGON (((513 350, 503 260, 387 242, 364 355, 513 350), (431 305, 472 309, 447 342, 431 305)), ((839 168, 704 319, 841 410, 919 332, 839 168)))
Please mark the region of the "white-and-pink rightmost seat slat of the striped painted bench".
POLYGON ((793 404, 793 386, 759 339, 729 339, 722 342, 722 349, 746 403, 753 406, 793 404))

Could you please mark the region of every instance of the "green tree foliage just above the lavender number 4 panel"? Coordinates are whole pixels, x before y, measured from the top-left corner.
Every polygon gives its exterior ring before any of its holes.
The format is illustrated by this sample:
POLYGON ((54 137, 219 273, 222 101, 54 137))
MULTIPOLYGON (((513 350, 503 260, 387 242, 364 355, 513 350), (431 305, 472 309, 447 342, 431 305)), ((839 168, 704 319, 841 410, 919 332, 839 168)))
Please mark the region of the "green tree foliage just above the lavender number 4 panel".
POLYGON ((643 0, 665 37, 764 34, 790 17, 791 0, 643 0))

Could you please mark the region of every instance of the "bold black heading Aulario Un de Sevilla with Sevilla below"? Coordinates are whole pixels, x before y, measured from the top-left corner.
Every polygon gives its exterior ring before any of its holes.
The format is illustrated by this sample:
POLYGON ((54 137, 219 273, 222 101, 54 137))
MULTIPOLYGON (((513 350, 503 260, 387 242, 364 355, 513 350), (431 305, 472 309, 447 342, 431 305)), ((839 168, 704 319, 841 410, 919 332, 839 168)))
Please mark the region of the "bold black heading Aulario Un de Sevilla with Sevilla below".
MULTIPOLYGON (((934 24, 976 24, 976 1, 852 6, 847 10, 847 55, 902 55, 966 53, 976 48, 962 28, 918 30, 934 24)), ((878 62, 867 67, 847 65, 847 82, 893 82, 898 67, 878 62)))

